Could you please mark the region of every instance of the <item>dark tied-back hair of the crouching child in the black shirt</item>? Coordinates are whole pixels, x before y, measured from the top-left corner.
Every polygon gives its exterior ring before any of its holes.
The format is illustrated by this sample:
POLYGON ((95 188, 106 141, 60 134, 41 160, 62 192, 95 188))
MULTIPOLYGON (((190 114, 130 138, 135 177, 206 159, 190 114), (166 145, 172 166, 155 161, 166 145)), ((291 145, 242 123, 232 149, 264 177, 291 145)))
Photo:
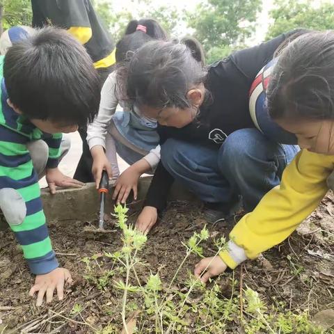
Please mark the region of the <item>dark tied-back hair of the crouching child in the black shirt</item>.
POLYGON ((157 109, 184 109, 191 106, 189 90, 205 83, 206 77, 204 53, 196 39, 148 42, 118 71, 120 99, 157 109))

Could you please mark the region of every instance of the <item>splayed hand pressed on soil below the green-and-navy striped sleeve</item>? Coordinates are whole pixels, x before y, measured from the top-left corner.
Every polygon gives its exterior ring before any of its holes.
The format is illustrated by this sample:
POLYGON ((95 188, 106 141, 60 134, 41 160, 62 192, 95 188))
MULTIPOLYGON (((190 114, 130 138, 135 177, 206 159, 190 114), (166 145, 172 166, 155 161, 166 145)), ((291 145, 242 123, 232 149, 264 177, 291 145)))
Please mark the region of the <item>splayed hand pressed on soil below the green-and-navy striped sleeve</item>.
POLYGON ((37 275, 35 285, 30 289, 29 295, 33 296, 35 292, 38 292, 36 306, 40 306, 45 294, 47 303, 52 301, 56 289, 58 299, 61 301, 64 298, 65 283, 72 283, 70 271, 65 268, 57 268, 44 275, 37 275))

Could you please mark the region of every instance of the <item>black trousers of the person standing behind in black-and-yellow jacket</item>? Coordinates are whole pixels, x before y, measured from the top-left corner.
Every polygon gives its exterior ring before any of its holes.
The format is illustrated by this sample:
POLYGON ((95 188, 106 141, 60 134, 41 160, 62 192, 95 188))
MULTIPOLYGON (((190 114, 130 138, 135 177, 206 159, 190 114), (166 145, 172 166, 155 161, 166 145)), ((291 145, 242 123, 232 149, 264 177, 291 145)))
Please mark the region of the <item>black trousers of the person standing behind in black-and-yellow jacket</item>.
MULTIPOLYGON (((109 76, 111 72, 113 72, 113 66, 106 67, 106 68, 99 68, 97 69, 99 72, 100 79, 101 79, 101 88, 106 81, 106 78, 109 76)), ((81 182, 94 182, 94 177, 92 174, 92 166, 93 166, 93 158, 92 154, 90 154, 90 150, 86 141, 87 138, 87 128, 79 129, 79 134, 82 139, 82 155, 79 160, 79 164, 77 166, 77 170, 74 173, 74 179, 79 180, 81 182)))

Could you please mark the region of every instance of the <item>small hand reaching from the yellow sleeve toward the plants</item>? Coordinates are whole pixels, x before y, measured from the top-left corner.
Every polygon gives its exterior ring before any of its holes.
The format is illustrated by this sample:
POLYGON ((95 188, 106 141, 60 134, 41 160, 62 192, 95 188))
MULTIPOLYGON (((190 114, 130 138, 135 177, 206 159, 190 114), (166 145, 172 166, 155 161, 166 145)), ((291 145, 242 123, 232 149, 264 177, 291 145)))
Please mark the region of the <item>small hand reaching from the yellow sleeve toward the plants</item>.
POLYGON ((218 276, 220 273, 223 273, 226 268, 225 262, 221 260, 221 257, 205 257, 204 259, 200 260, 198 264, 195 266, 195 271, 193 272, 197 278, 200 278, 202 283, 207 283, 209 278, 214 276, 218 276), (201 276, 202 272, 206 271, 203 276, 201 276))

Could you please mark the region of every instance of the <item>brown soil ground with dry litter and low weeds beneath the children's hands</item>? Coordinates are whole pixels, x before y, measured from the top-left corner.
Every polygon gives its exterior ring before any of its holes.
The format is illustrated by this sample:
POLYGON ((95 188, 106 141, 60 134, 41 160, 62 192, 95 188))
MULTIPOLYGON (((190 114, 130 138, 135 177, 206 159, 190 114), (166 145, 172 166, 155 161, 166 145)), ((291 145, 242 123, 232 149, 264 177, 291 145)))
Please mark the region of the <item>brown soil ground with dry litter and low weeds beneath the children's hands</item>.
MULTIPOLYGON (((136 212, 129 212, 130 222, 135 217, 136 212)), ((216 253, 213 240, 227 234, 239 218, 235 216, 228 223, 207 226, 210 237, 202 243, 204 255, 216 253)), ((191 294, 184 303, 182 321, 175 332, 170 333, 332 333, 331 329, 315 331, 312 326, 304 326, 304 323, 314 315, 320 319, 320 323, 328 319, 333 321, 333 218, 334 202, 330 193, 317 212, 283 244, 265 252, 259 260, 245 262, 234 272, 226 272, 218 280, 209 283, 206 293, 205 290, 196 290, 191 294), (261 303, 266 305, 264 317, 262 313, 252 313, 250 310, 250 302, 247 301, 249 289, 257 292, 261 303), (225 304, 220 304, 220 301, 225 304), (225 307, 231 309, 228 315, 223 313, 224 310, 217 310, 225 307), (207 310, 210 310, 210 314, 207 310), (320 311, 323 310, 326 310, 325 319, 321 319, 320 311), (222 319, 220 327, 214 312, 222 319), (285 331, 276 331, 267 328, 265 321, 273 321, 273 317, 278 319, 280 312, 283 315, 281 321, 290 314, 298 315, 292 322, 299 321, 296 328, 304 329, 289 331, 287 326, 285 331), (240 314, 243 314, 243 320, 240 314), (305 320, 305 317, 308 319, 305 320), (256 326, 259 328, 254 329, 256 326)), ((136 267, 139 283, 145 286, 150 272, 159 272, 163 282, 163 290, 159 294, 164 292, 168 296, 168 303, 175 305, 175 308, 180 301, 184 301, 189 271, 193 271, 193 265, 200 257, 191 254, 170 289, 168 282, 186 254, 182 242, 194 232, 200 232, 204 225, 205 220, 198 205, 174 202, 139 252, 141 259, 146 262, 144 266, 136 267)), ((116 289, 115 282, 118 276, 124 277, 124 274, 110 274, 109 277, 114 261, 105 256, 105 253, 114 253, 122 248, 120 230, 111 219, 109 233, 87 231, 90 228, 91 223, 80 221, 59 221, 49 226, 58 259, 63 267, 70 269, 74 283, 67 287, 63 301, 55 300, 47 307, 40 308, 35 307, 34 299, 28 295, 33 278, 22 260, 13 234, 0 232, 0 333, 120 333, 123 291, 116 289)), ((134 282, 134 277, 130 280, 134 282)), ((128 322, 128 333, 134 333, 131 328, 134 318, 138 328, 136 333, 158 333, 146 303, 138 293, 129 292, 127 319, 131 315, 134 317, 128 322)), ((124 329, 122 333, 126 333, 124 329)))

